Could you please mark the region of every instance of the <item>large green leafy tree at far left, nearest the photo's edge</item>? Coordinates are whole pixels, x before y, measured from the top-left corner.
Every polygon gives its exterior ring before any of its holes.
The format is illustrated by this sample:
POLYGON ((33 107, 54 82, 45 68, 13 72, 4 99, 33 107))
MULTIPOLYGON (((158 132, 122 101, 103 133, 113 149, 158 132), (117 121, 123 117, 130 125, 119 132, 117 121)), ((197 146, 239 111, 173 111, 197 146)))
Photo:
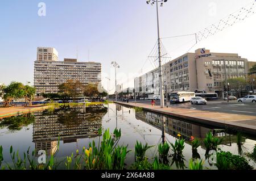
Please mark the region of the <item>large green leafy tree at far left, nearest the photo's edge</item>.
POLYGON ((3 105, 5 107, 10 106, 10 102, 15 98, 22 98, 24 94, 23 84, 20 82, 11 82, 10 85, 3 89, 3 105))

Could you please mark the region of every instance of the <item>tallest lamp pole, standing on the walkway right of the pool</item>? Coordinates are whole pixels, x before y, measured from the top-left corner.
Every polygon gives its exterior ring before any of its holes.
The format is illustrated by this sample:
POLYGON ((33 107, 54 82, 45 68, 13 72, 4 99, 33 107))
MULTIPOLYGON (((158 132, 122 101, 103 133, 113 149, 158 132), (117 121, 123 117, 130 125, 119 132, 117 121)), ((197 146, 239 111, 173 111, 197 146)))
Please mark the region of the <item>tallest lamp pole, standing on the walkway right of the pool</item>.
POLYGON ((163 77, 162 77, 162 61, 161 61, 161 47, 160 47, 160 31, 159 31, 159 14, 158 14, 158 3, 161 7, 167 0, 148 0, 147 4, 154 5, 156 3, 156 18, 158 24, 158 60, 159 60, 159 94, 160 94, 160 106, 164 108, 164 92, 163 92, 163 77))

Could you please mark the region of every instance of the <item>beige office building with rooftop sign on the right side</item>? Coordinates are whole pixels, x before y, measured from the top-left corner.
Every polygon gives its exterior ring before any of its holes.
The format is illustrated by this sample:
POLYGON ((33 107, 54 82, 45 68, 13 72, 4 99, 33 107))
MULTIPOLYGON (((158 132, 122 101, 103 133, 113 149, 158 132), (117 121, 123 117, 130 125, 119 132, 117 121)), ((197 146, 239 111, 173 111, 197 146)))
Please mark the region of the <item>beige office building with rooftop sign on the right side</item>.
MULTIPOLYGON (((236 53, 213 53, 205 48, 197 49, 195 53, 186 53, 163 65, 164 93, 207 91, 216 92, 221 97, 225 76, 227 79, 246 78, 247 62, 246 58, 236 53)), ((155 71, 157 72, 158 69, 155 71)), ((141 90, 152 86, 147 81, 147 75, 148 73, 141 76, 141 90)), ((154 78, 156 78, 155 81, 159 79, 158 76, 154 78)), ((158 91, 159 86, 157 90, 153 90, 153 94, 159 94, 158 91)), ((140 94, 143 94, 143 91, 140 91, 140 94)))

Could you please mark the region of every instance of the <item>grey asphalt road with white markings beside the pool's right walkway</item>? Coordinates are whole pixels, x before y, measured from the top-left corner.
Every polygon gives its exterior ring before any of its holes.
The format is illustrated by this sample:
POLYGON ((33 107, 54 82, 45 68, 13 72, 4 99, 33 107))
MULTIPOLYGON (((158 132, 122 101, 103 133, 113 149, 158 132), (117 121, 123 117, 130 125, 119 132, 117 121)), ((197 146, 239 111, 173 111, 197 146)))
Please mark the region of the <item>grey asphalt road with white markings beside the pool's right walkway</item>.
MULTIPOLYGON (((134 102, 134 100, 130 100, 134 102)), ((138 103, 151 104, 151 100, 137 100, 138 103)), ((160 101, 156 101, 156 105, 160 105, 160 101)), ((210 112, 225 112, 225 113, 235 113, 240 115, 250 115, 256 116, 256 104, 243 104, 237 103, 236 101, 231 101, 230 103, 224 103, 223 100, 220 101, 208 101, 207 105, 196 105, 191 103, 180 103, 171 104, 171 107, 188 108, 190 110, 201 110, 210 112)))

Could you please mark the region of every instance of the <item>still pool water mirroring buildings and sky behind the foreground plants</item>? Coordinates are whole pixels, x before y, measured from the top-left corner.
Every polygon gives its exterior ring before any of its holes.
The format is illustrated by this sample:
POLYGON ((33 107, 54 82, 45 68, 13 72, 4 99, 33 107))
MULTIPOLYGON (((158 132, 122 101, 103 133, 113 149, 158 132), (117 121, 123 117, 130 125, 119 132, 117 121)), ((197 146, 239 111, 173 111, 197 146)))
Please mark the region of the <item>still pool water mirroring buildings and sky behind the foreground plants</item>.
MULTIPOLYGON (((59 151, 57 158, 65 158, 67 155, 76 153, 76 150, 88 148, 89 142, 93 140, 98 144, 98 130, 100 128, 121 129, 119 145, 128 145, 127 149, 132 150, 127 154, 126 168, 129 169, 134 163, 134 146, 136 141, 142 144, 155 145, 147 150, 147 158, 152 161, 158 154, 158 146, 163 141, 174 144, 177 134, 185 140, 183 150, 184 165, 188 167, 189 159, 205 159, 205 146, 203 140, 208 132, 222 138, 219 148, 223 151, 230 151, 232 154, 245 154, 253 151, 256 138, 242 133, 238 139, 237 133, 225 128, 209 127, 207 125, 193 124, 185 120, 177 120, 172 117, 158 115, 152 112, 135 110, 123 107, 118 104, 106 104, 100 110, 84 110, 82 107, 65 107, 59 110, 46 110, 42 112, 27 113, 24 115, 7 117, 0 120, 0 145, 3 146, 3 155, 6 162, 11 161, 9 154, 10 146, 19 153, 31 150, 47 150, 47 154, 54 154, 59 151), (191 136, 201 141, 197 153, 192 153, 191 136), (237 140, 240 140, 238 142, 237 140)), ((171 159, 171 158, 170 158, 171 159)), ((249 160, 249 158, 248 158, 249 160)), ((250 165, 255 162, 249 160, 250 165)), ((172 169, 180 169, 176 165, 172 169)), ((204 167, 216 169, 205 161, 204 167)), ((186 169, 186 168, 185 168, 186 169)))

